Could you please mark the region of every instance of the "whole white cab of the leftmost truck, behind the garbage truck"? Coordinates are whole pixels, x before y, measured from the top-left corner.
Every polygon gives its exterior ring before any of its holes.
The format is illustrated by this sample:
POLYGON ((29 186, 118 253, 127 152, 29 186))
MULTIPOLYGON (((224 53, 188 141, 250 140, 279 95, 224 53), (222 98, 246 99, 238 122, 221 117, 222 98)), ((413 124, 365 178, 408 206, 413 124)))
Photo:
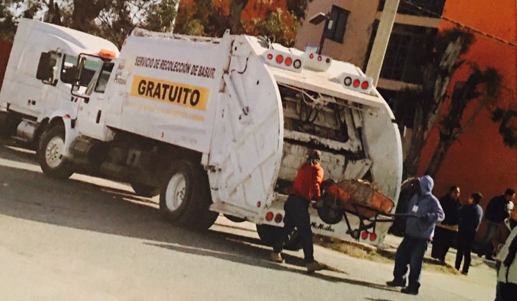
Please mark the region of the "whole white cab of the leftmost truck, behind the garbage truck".
MULTIPOLYGON (((118 56, 110 41, 70 28, 21 19, 0 89, 0 134, 37 144, 53 120, 75 119, 78 98, 70 94, 78 56, 118 56)), ((102 64, 88 61, 80 79, 84 90, 102 64)))

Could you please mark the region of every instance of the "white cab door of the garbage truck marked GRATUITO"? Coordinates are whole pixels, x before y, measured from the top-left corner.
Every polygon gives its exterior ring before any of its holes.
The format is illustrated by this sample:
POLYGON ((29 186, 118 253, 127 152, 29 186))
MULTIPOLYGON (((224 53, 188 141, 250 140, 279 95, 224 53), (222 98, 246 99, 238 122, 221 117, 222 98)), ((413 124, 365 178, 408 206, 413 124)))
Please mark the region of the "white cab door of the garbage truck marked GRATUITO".
MULTIPOLYGON (((88 61, 86 62, 86 65, 88 61)), ((113 70, 114 63, 103 62, 98 65, 96 74, 93 76, 86 88, 85 98, 81 99, 78 112, 76 128, 80 135, 105 139, 106 128, 104 125, 103 110, 106 106, 104 91, 108 79, 113 70)), ((90 63, 90 70, 95 68, 95 64, 90 63)))

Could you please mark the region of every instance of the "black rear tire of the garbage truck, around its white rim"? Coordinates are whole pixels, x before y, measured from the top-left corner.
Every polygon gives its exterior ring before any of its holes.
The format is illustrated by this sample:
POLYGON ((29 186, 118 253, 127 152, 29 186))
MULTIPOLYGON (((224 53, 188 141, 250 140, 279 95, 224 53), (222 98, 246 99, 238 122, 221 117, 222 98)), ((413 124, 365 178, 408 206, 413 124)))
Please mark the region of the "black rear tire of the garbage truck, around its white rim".
MULTIPOLYGON (((172 164, 160 191, 160 211, 173 225, 205 230, 210 228, 219 213, 209 210, 212 204, 208 176, 200 164, 179 160, 172 164), (168 187, 173 177, 182 175, 185 180, 183 201, 177 208, 169 208, 168 187)), ((172 184, 171 184, 172 185, 172 184)))

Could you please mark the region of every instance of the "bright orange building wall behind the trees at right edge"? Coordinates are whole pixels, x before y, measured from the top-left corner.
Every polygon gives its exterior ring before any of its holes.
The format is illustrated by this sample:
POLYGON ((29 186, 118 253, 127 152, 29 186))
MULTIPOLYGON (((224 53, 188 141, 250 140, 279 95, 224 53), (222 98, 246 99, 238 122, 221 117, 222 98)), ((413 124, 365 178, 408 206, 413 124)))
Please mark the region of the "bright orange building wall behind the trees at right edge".
MULTIPOLYGON (((516 13, 515 0, 449 0, 444 9, 444 16, 452 20, 511 42, 517 40, 516 13)), ((440 29, 450 26, 450 22, 444 21, 440 29)), ((499 71, 503 76, 503 86, 511 92, 505 92, 506 97, 501 97, 498 102, 500 106, 507 107, 511 99, 508 95, 511 93, 517 97, 517 49, 482 35, 475 34, 475 37, 475 43, 464 58, 482 69, 493 66, 499 71)), ((449 88, 453 87, 454 80, 467 76, 468 72, 459 70, 449 88)), ((513 100, 513 105, 517 105, 517 99, 513 100)), ((446 107, 447 104, 443 109, 446 107)), ((473 107, 467 108, 464 117, 472 114, 473 107)), ((465 202, 471 192, 481 191, 484 208, 490 198, 502 194, 507 187, 517 189, 517 150, 504 145, 498 125, 490 117, 488 110, 482 110, 474 123, 459 136, 459 141, 451 146, 435 179, 436 195, 441 196, 451 185, 458 185, 465 202)), ((423 149, 420 174, 427 168, 437 141, 435 127, 423 149)))

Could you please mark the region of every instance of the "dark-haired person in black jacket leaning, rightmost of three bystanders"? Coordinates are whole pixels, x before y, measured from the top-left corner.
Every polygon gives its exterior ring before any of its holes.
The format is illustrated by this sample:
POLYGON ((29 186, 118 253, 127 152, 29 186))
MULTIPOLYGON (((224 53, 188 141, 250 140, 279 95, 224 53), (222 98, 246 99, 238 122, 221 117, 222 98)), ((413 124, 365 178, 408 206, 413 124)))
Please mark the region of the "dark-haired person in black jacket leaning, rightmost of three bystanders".
POLYGON ((508 188, 505 194, 496 196, 490 200, 486 206, 485 219, 488 222, 486 233, 478 250, 478 256, 485 256, 488 260, 494 260, 492 253, 494 246, 492 245, 492 237, 494 236, 497 227, 510 215, 508 212, 513 208, 513 198, 515 197, 515 190, 508 188))

